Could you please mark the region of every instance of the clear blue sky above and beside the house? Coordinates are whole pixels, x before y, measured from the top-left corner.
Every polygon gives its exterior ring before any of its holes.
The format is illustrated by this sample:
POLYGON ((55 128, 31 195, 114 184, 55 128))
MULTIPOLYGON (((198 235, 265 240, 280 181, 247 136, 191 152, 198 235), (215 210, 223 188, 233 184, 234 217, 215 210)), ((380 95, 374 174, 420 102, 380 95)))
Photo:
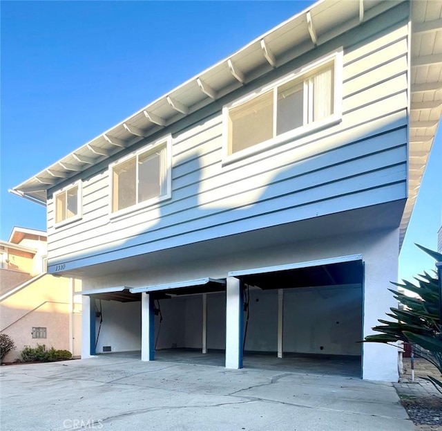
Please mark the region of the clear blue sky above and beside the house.
MULTIPOLYGON (((8 189, 307 7, 311 1, 1 1, 1 239, 46 228, 8 189)), ((436 137, 400 275, 433 261, 442 214, 436 137)))

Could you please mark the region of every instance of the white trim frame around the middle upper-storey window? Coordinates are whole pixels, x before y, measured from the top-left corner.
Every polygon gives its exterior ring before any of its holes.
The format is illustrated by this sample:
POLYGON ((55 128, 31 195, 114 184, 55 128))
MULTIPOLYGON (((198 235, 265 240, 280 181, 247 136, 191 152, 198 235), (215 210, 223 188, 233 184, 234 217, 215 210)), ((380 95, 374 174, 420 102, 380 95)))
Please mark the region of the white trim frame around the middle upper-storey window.
POLYGON ((126 214, 130 214, 131 212, 135 212, 147 207, 151 207, 152 205, 155 205, 156 203, 160 203, 162 201, 166 201, 167 199, 171 199, 172 197, 172 136, 171 134, 164 136, 161 139, 155 140, 153 143, 150 143, 146 145, 145 147, 142 147, 141 149, 138 149, 136 152, 132 152, 131 154, 128 154, 127 156, 124 156, 123 158, 119 158, 114 163, 111 163, 108 168, 108 183, 109 183, 109 217, 112 220, 118 219, 119 217, 122 217, 126 214), (114 211, 112 212, 113 208, 113 181, 112 181, 112 170, 115 166, 119 165, 120 163, 124 163, 125 161, 128 161, 130 158, 133 158, 135 156, 138 156, 139 154, 143 153, 150 153, 155 152, 155 149, 157 147, 162 147, 164 144, 166 144, 166 163, 167 163, 167 181, 166 181, 166 193, 162 196, 156 196, 151 199, 148 199, 147 201, 143 201, 140 203, 135 203, 135 205, 131 205, 127 208, 124 208, 122 210, 114 211))

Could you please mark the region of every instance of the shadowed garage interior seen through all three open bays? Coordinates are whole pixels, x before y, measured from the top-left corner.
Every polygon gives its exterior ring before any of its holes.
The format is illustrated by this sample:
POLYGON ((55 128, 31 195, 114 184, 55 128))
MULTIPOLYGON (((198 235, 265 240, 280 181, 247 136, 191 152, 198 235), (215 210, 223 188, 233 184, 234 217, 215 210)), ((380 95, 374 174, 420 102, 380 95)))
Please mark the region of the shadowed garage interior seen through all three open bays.
MULTIPOLYGON (((234 276, 243 293, 244 367, 361 378, 361 260, 234 276)), ((155 307, 155 360, 224 367, 225 281, 208 280, 148 288, 155 307)), ((140 295, 127 288, 92 295, 98 304, 97 354, 140 358, 140 295)))

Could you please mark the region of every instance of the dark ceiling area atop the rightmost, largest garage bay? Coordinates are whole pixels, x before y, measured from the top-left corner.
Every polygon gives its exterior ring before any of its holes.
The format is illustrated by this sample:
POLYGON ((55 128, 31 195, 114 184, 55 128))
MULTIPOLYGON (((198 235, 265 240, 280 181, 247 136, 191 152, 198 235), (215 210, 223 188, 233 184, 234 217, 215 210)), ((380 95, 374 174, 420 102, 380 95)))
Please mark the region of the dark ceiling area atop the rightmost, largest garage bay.
POLYGON ((269 273, 238 275, 245 284, 262 289, 343 286, 362 284, 363 264, 361 260, 339 262, 307 268, 277 270, 269 273))

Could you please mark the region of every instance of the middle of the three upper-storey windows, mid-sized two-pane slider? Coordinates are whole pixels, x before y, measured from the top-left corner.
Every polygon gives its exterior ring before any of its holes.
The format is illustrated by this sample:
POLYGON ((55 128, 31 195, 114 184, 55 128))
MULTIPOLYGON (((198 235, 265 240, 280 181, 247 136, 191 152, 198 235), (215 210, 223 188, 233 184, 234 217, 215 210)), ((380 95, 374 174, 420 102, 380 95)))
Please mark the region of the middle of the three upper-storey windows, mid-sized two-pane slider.
POLYGON ((170 137, 111 165, 111 212, 145 206, 171 195, 170 137))

